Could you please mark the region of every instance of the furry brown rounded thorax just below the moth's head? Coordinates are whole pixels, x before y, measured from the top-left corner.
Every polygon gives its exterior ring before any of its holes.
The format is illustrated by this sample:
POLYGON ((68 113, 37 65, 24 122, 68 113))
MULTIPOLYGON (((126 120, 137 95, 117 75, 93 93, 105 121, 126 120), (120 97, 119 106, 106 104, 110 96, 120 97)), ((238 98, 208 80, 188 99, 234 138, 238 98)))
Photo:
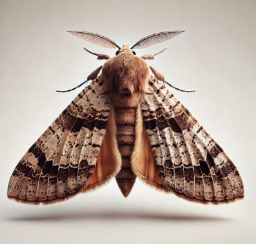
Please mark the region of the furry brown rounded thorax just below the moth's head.
POLYGON ((150 68, 140 57, 123 52, 104 64, 102 75, 104 88, 112 97, 134 99, 144 93, 150 68))

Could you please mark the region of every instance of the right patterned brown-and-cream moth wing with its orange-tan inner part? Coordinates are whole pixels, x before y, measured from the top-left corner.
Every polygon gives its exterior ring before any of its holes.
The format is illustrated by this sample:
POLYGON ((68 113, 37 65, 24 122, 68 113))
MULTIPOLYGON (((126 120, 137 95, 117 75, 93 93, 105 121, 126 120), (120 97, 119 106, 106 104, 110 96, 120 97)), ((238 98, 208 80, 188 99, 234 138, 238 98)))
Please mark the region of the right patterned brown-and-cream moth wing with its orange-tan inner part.
POLYGON ((154 77, 141 104, 137 133, 133 171, 147 183, 202 203, 244 196, 241 176, 230 158, 154 77), (147 155, 139 153, 139 145, 147 155))

